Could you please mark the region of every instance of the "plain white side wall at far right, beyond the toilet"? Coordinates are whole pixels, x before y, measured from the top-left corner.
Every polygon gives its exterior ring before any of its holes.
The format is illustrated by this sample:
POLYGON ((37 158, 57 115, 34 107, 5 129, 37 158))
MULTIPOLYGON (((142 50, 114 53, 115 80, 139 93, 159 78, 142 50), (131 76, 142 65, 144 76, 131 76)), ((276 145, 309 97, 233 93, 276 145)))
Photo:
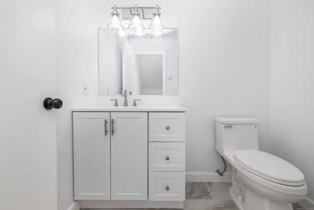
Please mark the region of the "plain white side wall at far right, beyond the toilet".
POLYGON ((271 1, 270 152, 305 175, 314 200, 314 1, 271 1))

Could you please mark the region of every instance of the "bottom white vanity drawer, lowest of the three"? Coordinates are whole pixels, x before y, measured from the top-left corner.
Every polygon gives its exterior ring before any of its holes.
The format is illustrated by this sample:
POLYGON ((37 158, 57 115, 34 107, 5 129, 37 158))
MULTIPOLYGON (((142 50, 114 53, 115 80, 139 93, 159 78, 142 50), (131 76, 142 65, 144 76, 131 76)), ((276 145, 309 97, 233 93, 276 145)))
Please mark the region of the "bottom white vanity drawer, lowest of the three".
POLYGON ((184 201, 184 172, 149 172, 149 201, 184 201))

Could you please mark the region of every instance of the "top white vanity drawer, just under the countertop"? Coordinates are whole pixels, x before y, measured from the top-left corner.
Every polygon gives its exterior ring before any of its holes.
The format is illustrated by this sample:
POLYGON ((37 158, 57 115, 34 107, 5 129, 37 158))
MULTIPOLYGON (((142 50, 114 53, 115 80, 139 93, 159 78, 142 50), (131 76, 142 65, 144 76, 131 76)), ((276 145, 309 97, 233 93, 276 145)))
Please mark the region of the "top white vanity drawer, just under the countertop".
POLYGON ((185 142, 185 113, 149 113, 150 142, 185 142))

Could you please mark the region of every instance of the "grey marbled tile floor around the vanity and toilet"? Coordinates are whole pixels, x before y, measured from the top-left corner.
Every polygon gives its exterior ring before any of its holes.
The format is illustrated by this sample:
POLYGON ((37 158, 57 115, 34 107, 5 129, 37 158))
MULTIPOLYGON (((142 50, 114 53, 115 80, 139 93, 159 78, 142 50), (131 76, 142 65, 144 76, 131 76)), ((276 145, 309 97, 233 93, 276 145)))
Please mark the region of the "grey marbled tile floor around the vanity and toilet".
MULTIPOLYGON (((231 183, 186 182, 184 210, 238 210, 229 196, 230 186, 231 183)), ((292 206, 293 210, 304 210, 298 204, 292 206)))

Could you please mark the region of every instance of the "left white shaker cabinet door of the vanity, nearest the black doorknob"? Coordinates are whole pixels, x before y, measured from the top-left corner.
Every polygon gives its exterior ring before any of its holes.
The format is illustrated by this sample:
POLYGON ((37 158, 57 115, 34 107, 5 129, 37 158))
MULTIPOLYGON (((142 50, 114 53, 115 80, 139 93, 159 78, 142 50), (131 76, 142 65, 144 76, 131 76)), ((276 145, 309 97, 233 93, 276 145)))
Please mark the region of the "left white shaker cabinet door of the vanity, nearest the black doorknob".
POLYGON ((110 200, 109 121, 110 113, 73 113, 75 200, 110 200))

